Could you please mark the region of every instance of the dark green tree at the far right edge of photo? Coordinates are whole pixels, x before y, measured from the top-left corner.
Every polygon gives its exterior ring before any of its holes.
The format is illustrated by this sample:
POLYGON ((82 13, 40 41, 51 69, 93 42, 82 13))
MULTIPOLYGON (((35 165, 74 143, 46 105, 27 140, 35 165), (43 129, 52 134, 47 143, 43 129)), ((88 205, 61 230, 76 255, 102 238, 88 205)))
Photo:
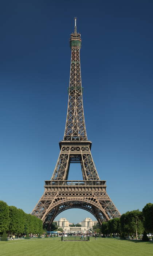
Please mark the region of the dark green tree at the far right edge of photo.
POLYGON ((144 215, 144 227, 148 233, 152 233, 153 240, 153 204, 148 203, 142 209, 142 213, 144 215))

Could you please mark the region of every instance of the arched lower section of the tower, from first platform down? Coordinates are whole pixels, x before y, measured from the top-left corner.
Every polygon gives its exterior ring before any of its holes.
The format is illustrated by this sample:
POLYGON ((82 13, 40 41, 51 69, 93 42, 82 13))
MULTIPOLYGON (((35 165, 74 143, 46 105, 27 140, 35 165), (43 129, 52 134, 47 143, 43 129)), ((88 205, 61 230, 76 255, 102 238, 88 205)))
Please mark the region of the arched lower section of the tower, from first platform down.
POLYGON ((106 181, 45 181, 45 191, 32 214, 49 229, 54 218, 70 208, 91 212, 98 222, 120 216, 106 193, 106 181))

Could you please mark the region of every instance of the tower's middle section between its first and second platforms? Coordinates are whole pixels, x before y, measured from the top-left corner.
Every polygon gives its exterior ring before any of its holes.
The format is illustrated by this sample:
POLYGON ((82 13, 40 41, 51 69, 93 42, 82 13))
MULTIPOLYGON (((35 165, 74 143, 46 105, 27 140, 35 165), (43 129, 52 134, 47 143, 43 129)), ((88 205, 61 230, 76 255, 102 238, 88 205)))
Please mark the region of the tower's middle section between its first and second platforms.
POLYGON ((67 180, 70 163, 81 163, 84 180, 99 180, 99 176, 91 155, 91 142, 60 142, 60 154, 52 180, 67 180))

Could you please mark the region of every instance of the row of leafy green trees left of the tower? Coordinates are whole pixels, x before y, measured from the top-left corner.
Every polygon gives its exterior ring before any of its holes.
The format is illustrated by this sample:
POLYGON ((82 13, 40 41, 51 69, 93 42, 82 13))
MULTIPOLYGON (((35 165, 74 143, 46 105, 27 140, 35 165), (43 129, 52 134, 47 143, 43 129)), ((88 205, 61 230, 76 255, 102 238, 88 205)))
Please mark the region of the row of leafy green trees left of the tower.
POLYGON ((15 206, 8 206, 7 203, 0 201, 0 233, 6 230, 9 234, 42 234, 42 220, 26 214, 22 209, 15 206))

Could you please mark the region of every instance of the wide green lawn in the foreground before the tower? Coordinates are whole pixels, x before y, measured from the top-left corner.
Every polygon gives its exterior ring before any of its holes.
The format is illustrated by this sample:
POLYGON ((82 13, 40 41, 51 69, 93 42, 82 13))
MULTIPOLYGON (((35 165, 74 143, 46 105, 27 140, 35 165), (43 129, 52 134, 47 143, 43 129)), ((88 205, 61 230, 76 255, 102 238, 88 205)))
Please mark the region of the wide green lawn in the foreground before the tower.
POLYGON ((117 240, 93 237, 90 241, 64 241, 60 238, 42 238, 32 240, 12 240, 0 242, 0 255, 3 256, 150 256, 153 255, 153 243, 141 241, 117 240))

